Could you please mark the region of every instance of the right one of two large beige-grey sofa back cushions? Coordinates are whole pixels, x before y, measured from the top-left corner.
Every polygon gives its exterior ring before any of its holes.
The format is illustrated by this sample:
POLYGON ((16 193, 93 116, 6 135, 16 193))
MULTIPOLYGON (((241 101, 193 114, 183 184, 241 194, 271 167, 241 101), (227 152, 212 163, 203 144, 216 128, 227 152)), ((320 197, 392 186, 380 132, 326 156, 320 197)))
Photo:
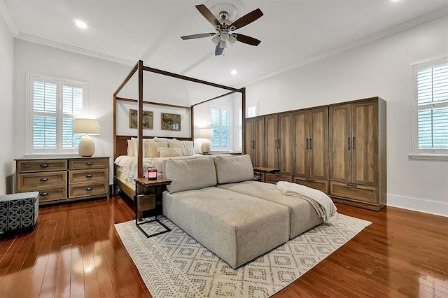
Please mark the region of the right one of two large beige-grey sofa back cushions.
POLYGON ((218 155, 214 158, 216 178, 219 184, 237 183, 253 179, 253 167, 249 155, 218 155))

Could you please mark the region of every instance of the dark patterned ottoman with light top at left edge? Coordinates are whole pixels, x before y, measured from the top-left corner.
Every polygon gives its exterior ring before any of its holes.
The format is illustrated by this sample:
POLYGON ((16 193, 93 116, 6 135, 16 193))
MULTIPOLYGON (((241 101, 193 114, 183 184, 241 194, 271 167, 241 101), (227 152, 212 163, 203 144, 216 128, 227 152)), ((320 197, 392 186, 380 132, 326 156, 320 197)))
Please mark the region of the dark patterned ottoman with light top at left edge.
POLYGON ((0 233, 33 229, 39 211, 39 192, 0 196, 0 233))

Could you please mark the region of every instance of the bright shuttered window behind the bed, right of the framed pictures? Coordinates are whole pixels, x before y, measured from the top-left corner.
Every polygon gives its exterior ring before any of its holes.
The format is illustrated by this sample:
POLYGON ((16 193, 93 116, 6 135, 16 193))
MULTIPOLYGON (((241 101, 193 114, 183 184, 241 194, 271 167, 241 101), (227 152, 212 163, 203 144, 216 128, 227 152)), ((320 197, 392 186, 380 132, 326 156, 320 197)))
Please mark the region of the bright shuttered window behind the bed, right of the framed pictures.
POLYGON ((211 107, 211 128, 213 128, 213 139, 211 139, 212 150, 230 149, 230 108, 225 106, 211 107))

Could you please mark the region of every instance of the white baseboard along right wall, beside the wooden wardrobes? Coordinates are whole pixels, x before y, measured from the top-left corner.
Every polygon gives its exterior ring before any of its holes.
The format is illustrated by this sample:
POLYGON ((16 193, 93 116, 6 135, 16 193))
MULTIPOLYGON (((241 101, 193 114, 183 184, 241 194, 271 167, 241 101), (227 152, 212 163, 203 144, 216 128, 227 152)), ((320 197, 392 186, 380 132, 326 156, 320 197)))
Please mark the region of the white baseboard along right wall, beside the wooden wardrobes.
POLYGON ((387 206, 448 217, 448 203, 387 194, 387 206))

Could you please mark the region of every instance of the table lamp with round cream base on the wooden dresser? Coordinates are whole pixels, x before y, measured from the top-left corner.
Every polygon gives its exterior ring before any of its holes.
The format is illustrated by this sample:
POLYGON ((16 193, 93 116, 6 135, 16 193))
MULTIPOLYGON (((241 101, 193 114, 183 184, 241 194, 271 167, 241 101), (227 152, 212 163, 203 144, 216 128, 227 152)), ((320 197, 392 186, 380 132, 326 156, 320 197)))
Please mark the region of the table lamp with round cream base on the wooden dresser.
POLYGON ((99 135, 99 121, 76 118, 73 121, 73 134, 83 134, 83 139, 79 142, 78 147, 79 155, 92 156, 95 152, 95 144, 89 135, 99 135))

